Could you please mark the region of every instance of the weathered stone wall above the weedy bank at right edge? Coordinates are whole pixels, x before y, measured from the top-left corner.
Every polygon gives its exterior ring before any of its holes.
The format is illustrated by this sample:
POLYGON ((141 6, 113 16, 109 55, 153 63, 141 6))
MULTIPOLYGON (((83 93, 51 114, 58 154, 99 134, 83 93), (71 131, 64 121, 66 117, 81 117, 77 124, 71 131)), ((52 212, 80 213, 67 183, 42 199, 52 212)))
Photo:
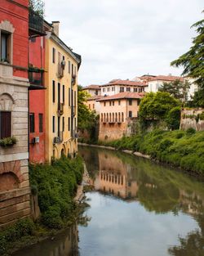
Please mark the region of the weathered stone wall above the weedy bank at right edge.
POLYGON ((196 131, 204 131, 204 109, 184 109, 181 111, 180 129, 194 128, 196 131), (203 113, 203 114, 202 114, 203 113))

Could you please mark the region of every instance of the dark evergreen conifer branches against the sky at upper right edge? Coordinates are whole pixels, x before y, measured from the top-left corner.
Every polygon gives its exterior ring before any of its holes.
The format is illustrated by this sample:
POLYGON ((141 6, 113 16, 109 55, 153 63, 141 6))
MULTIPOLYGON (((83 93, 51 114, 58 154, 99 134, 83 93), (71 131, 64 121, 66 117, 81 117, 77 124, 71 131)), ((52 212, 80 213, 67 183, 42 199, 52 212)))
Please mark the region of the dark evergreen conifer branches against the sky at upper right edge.
POLYGON ((182 74, 196 79, 195 83, 204 88, 204 20, 197 21, 192 27, 197 31, 193 46, 177 60, 172 61, 171 65, 184 66, 182 74))

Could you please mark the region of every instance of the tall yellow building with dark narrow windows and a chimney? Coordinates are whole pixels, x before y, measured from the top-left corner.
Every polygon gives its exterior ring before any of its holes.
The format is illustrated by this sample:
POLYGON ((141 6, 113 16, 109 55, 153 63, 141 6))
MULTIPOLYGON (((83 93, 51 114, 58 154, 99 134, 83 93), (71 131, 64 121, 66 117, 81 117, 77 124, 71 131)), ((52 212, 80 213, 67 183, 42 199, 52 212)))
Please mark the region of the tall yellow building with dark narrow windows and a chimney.
POLYGON ((78 151, 78 69, 81 56, 59 38, 59 22, 46 37, 46 160, 78 151))

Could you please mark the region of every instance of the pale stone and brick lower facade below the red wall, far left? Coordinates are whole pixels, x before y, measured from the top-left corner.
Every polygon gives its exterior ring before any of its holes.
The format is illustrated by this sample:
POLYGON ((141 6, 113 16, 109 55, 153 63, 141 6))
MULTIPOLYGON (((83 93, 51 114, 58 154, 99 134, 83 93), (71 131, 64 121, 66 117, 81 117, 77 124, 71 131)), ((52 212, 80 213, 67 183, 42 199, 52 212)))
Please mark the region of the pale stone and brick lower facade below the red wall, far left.
POLYGON ((0 111, 11 112, 13 146, 0 146, 0 228, 30 216, 28 80, 0 77, 0 111))

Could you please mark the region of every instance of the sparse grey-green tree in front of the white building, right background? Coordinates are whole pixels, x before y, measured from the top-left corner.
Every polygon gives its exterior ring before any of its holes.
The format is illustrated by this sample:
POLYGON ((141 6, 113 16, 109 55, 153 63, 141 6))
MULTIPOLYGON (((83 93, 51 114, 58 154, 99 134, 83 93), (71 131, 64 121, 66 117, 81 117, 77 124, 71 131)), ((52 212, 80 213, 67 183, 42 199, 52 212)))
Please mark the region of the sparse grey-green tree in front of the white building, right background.
POLYGON ((188 101, 188 90, 190 85, 187 80, 181 82, 179 79, 171 83, 163 83, 162 87, 158 90, 159 92, 169 92, 171 96, 182 102, 188 101))

